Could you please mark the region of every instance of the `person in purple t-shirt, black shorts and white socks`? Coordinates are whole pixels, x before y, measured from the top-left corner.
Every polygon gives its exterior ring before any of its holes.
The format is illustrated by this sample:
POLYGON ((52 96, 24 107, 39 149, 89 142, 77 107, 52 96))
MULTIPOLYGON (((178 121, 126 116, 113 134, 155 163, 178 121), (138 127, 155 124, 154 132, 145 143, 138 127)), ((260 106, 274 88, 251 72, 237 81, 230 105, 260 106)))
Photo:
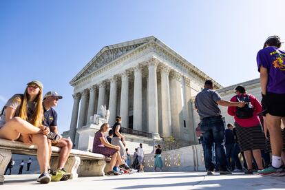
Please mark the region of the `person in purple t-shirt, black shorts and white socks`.
POLYGON ((282 134, 280 124, 285 117, 285 52, 280 50, 279 36, 269 36, 257 53, 257 67, 262 87, 262 107, 271 138, 272 166, 258 171, 262 176, 283 176, 282 134))

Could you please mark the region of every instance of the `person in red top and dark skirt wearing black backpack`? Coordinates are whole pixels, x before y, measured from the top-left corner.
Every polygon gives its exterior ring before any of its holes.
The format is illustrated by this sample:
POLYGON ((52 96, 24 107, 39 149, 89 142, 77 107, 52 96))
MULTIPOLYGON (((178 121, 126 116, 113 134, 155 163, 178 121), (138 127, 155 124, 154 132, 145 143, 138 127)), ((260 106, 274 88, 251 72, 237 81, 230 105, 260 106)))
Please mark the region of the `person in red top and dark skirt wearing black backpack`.
POLYGON ((258 169, 264 169, 262 165, 261 150, 265 149, 265 139, 260 124, 260 118, 257 116, 262 112, 262 105, 251 94, 246 94, 243 86, 235 87, 235 96, 231 101, 243 101, 246 106, 229 107, 228 114, 234 116, 235 129, 240 144, 240 151, 244 152, 246 158, 247 169, 246 174, 253 173, 253 157, 257 163, 258 169))

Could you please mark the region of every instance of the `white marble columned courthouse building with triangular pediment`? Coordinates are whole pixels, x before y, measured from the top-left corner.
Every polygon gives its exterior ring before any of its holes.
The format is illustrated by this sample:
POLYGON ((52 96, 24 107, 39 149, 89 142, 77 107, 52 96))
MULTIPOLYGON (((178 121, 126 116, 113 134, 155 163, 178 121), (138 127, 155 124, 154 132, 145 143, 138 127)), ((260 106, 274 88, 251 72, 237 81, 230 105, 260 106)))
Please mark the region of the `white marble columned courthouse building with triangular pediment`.
POLYGON ((122 116, 131 152, 140 142, 150 152, 156 141, 168 136, 195 144, 193 96, 207 79, 154 36, 105 46, 70 81, 74 105, 68 135, 76 148, 91 149, 100 128, 92 116, 106 105, 111 126, 116 115, 122 116))

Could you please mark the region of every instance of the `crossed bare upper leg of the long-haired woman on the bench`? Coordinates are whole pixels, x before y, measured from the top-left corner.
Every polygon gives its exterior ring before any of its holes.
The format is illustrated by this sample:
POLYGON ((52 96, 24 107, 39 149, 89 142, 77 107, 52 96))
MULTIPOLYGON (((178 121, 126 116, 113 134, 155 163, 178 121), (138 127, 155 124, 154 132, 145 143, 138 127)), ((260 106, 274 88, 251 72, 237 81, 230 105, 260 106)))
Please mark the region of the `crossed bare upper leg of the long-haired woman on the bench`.
POLYGON ((34 127, 22 118, 14 117, 1 127, 0 138, 17 140, 20 134, 39 134, 40 132, 39 127, 34 127))

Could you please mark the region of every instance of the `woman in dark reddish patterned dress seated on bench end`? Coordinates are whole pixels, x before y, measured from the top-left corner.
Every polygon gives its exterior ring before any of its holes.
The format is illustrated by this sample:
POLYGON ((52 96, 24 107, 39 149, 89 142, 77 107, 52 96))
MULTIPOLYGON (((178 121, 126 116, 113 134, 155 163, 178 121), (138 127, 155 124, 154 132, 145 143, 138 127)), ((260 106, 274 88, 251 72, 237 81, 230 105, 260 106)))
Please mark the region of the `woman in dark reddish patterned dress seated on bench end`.
POLYGON ((124 169, 129 169, 129 167, 125 165, 125 162, 123 162, 120 156, 120 146, 110 144, 105 138, 105 133, 107 133, 108 129, 109 124, 103 123, 100 129, 96 132, 92 152, 103 154, 105 156, 112 156, 107 176, 118 176, 120 175, 118 167, 123 167, 124 169))

